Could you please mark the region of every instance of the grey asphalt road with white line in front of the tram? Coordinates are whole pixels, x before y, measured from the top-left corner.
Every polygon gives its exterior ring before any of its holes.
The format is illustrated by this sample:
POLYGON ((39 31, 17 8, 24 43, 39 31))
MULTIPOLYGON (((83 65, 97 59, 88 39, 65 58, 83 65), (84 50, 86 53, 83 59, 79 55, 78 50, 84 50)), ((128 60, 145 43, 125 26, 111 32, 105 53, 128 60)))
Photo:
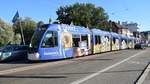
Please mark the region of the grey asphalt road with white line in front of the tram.
POLYGON ((0 84, 134 84, 150 61, 149 51, 121 50, 44 63, 0 63, 0 84))

